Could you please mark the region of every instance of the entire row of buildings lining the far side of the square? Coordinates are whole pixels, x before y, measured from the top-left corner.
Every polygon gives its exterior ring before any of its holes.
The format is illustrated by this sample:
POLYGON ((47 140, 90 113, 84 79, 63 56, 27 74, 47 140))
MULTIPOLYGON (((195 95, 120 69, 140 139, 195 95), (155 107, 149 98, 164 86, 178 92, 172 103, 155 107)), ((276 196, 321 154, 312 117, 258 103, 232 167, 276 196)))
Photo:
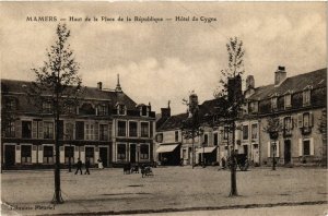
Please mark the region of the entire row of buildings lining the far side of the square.
MULTIPOLYGON (((273 76, 273 74, 272 74, 273 76)), ((274 83, 255 86, 246 80, 243 113, 236 122, 235 149, 256 165, 272 163, 272 143, 263 132, 276 113, 282 130, 276 141, 280 165, 314 164, 327 158, 326 109, 327 70, 286 77, 283 67, 274 72, 274 83)), ((49 104, 42 110, 28 101, 31 82, 1 80, 1 165, 3 168, 48 167, 55 163, 55 122, 49 104)), ((241 88, 242 91, 242 88, 241 88)), ((198 100, 197 96, 191 95, 198 100)), ((229 156, 232 134, 220 121, 220 98, 198 106, 203 133, 184 139, 184 122, 190 113, 171 115, 169 104, 155 118, 151 104, 137 104, 117 82, 115 89, 102 83, 86 87, 79 105, 59 121, 60 163, 82 163, 101 158, 106 167, 126 163, 215 165, 229 156)))

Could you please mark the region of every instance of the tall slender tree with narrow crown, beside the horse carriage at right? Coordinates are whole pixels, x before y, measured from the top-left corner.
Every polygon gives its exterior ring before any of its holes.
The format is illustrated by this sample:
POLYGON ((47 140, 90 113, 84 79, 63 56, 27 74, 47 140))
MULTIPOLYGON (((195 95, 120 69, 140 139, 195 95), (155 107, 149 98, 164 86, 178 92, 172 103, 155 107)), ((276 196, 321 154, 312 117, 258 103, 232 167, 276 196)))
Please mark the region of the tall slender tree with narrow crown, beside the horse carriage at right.
MULTIPOLYGON (((236 158, 235 158, 235 130, 238 113, 241 113, 244 97, 242 93, 242 75, 244 73, 244 55, 243 40, 237 37, 230 38, 226 44, 227 68, 221 71, 219 88, 214 92, 215 98, 223 98, 226 101, 227 109, 220 116, 223 117, 224 124, 229 132, 232 133, 232 152, 230 153, 231 170, 231 192, 230 196, 236 196, 236 158)), ((230 141, 229 141, 230 142, 230 141)), ((230 144, 229 144, 230 145, 230 144)), ((229 147, 230 151, 230 147, 229 147)))

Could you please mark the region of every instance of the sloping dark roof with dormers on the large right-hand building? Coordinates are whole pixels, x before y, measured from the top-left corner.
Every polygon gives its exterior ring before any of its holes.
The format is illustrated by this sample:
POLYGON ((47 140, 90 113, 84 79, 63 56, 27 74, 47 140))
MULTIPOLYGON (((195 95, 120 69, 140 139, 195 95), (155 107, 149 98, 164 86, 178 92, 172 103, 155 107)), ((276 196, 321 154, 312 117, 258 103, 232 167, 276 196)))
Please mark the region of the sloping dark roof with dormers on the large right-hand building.
POLYGON ((280 85, 266 85, 255 88, 255 93, 248 98, 249 100, 261 100, 277 94, 284 95, 288 92, 302 92, 307 86, 319 88, 327 86, 327 69, 320 69, 308 73, 291 76, 284 80, 280 85))

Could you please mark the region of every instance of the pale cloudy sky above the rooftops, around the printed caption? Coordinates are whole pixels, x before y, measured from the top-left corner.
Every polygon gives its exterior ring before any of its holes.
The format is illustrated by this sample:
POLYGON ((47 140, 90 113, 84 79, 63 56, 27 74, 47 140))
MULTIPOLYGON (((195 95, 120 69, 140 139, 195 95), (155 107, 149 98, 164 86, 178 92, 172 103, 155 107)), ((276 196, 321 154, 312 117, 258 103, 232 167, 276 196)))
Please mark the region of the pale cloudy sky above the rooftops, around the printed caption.
MULTIPOLYGON (((200 103, 213 98, 226 68, 225 44, 244 41, 244 79, 273 83, 278 65, 288 76, 326 68, 325 2, 1 2, 1 77, 34 80, 31 68, 46 60, 60 19, 154 16, 154 22, 69 22, 69 43, 80 62, 83 84, 122 91, 153 109, 171 100, 184 112, 183 98, 195 91, 200 103), (175 22, 175 16, 215 17, 215 22, 175 22), (26 22, 26 16, 57 16, 57 22, 26 22)), ((63 22, 61 22, 63 23, 63 22)))

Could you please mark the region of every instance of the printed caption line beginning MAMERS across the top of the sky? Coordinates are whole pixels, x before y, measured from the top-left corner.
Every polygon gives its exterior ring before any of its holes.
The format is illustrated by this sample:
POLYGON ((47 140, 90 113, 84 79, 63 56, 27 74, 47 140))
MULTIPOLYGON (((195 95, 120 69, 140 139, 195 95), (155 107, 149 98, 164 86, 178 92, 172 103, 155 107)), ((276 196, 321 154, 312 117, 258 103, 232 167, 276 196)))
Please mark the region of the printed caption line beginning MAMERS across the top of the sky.
POLYGON ((69 16, 68 19, 59 19, 58 16, 26 16, 27 22, 57 22, 57 21, 69 21, 69 22, 154 22, 160 23, 163 21, 175 21, 175 22, 202 22, 211 23, 215 22, 216 17, 208 16, 175 16, 174 19, 163 19, 155 16, 69 16))

